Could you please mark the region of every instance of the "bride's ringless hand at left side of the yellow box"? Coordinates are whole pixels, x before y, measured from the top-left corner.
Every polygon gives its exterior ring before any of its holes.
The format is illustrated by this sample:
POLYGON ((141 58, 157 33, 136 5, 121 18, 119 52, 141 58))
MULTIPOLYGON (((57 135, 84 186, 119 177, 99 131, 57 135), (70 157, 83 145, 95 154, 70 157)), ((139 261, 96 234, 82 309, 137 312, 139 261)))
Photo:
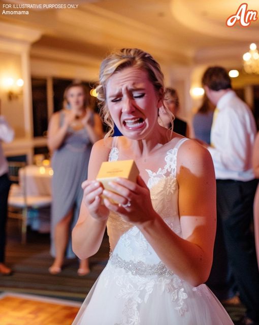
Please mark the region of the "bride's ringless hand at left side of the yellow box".
POLYGON ((87 207, 90 215, 96 220, 105 220, 109 216, 109 209, 103 204, 102 183, 98 181, 86 180, 82 183, 83 203, 87 207))

